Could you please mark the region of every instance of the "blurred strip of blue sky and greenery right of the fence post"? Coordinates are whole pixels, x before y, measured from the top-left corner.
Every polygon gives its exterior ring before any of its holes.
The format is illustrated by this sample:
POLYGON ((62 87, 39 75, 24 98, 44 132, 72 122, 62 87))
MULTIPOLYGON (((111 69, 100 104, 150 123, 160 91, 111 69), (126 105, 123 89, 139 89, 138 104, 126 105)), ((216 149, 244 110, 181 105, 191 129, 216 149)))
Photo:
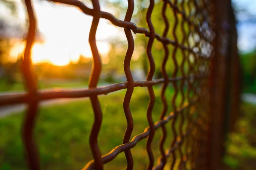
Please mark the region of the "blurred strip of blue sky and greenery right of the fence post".
POLYGON ((240 115, 235 130, 225 143, 227 169, 253 170, 256 167, 256 1, 233 0, 242 67, 240 115))

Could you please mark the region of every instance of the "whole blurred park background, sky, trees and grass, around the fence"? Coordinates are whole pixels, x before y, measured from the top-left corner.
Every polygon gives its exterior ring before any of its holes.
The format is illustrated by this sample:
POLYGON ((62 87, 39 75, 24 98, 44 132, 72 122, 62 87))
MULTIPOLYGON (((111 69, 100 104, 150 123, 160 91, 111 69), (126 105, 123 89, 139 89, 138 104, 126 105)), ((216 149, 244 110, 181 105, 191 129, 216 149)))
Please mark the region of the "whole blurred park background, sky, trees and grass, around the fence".
MULTIPOLYGON (((89 0, 83 0, 83 2, 92 8, 89 0)), ((35 44, 32 47, 32 62, 39 88, 86 88, 92 65, 92 54, 88 43, 92 17, 82 14, 75 7, 46 0, 34 0, 33 3, 38 18, 38 28, 35 44)), ((154 25, 163 25, 161 15, 158 14, 162 4, 159 0, 155 0, 155 3, 152 22, 154 25)), ((225 143, 226 153, 223 163, 227 169, 254 170, 256 168, 256 136, 254 135, 256 132, 256 1, 233 0, 232 3, 237 20, 239 58, 243 68, 241 95, 243 102, 241 102, 241 114, 235 130, 228 135, 225 143)), ((107 0, 100 1, 100 4, 102 11, 110 12, 120 20, 124 20, 127 1, 107 0)), ((146 28, 145 13, 148 5, 148 0, 136 1, 131 22, 146 28)), ((172 10, 167 9, 167 12, 172 13, 172 10)), ((168 17, 171 21, 170 28, 172 28, 173 16, 168 17)), ((20 59, 26 43, 27 27, 28 19, 22 1, 0 0, 0 96, 25 91, 20 74, 20 59)), ((180 27, 179 25, 177 29, 180 27)), ((188 29, 189 26, 186 26, 185 30, 188 29)), ((155 30, 161 33, 163 28, 155 27, 155 30)), ((135 49, 131 59, 132 75, 134 80, 145 80, 149 68, 145 54, 148 38, 142 34, 133 35, 135 49)), ((168 36, 173 38, 171 31, 168 36)), ((179 41, 182 39, 180 32, 177 32, 177 37, 179 41)), ((125 82, 123 59, 127 50, 127 40, 123 28, 113 26, 108 20, 100 20, 96 42, 103 63, 99 85, 125 82)), ((172 47, 169 48, 173 50, 172 47)), ((153 56, 161 56, 154 57, 156 63, 154 78, 160 78, 164 54, 162 43, 154 41, 152 53, 153 56)), ((177 50, 176 55, 181 56, 181 51, 177 50)), ((180 63, 181 57, 177 59, 180 63)), ((185 72, 188 70, 187 62, 184 69, 185 72)), ((171 76, 173 71, 171 59, 167 62, 166 70, 171 76)), ((178 75, 180 74, 179 70, 178 75)), ((161 86, 154 87, 155 94, 158 94, 154 107, 154 121, 157 121, 159 116, 156 111, 162 110, 160 88, 161 86)), ((173 89, 168 88, 166 91, 168 101, 171 101, 172 94, 173 89)), ((102 154, 122 144, 122 135, 126 128, 122 108, 124 95, 125 91, 100 96, 103 114, 107 113, 99 136, 100 141, 105 143, 105 146, 101 146, 102 154), (109 133, 113 131, 108 128, 112 123, 113 115, 120 121, 114 124, 114 133, 109 133), (110 141, 109 138, 113 140, 110 141)), ((135 115, 132 136, 141 133, 147 127, 146 116, 141 114, 145 113, 147 105, 146 88, 134 89, 131 100, 131 112, 135 115), (139 109, 136 107, 138 101, 141 102, 139 109)), ((25 105, 0 108, 0 136, 4 136, 0 139, 0 170, 26 169, 22 142, 20 138, 17 139, 17 136, 20 136, 24 108, 25 105)), ((171 110, 172 108, 169 108, 169 111, 171 110)), ((88 141, 92 120, 93 111, 88 100, 61 99, 43 102, 36 127, 43 169, 81 169, 84 162, 90 161, 92 155, 89 145, 84 144, 88 141), (63 103, 65 103, 64 106, 61 105, 63 103), (87 111, 84 111, 84 108, 87 108, 87 111), (41 124, 41 122, 44 123, 41 124), (62 134, 63 131, 67 133, 62 134), (88 150, 88 153, 81 153, 80 150, 88 150)), ((157 145, 159 142, 157 138, 160 139, 160 136, 159 131, 156 133, 154 144, 157 145)), ((170 142, 171 136, 166 143, 170 142)), ((139 158, 134 160, 134 164, 139 169, 145 168, 148 164, 145 141, 138 143, 138 147, 136 150, 132 149, 132 152, 139 158)), ((154 152, 156 156, 160 155, 158 150, 154 152)), ((120 154, 106 165, 108 169, 116 169, 117 166, 118 168, 126 167, 124 154, 120 154)))

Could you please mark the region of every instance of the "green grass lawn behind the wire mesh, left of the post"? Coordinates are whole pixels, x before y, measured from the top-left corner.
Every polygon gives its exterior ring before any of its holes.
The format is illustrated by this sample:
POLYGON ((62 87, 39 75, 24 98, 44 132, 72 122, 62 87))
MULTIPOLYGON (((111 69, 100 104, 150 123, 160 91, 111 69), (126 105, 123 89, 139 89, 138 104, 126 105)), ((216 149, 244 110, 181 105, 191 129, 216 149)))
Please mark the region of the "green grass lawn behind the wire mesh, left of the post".
MULTIPOLYGON (((122 108, 125 91, 118 91, 108 95, 99 96, 103 122, 99 133, 99 146, 103 154, 110 152, 114 147, 122 144, 126 129, 126 119, 122 108)), ((168 113, 172 111, 172 88, 166 91, 169 104, 168 113)), ((154 88, 156 102, 153 110, 154 122, 160 117, 162 103, 160 99, 160 86, 154 88)), ((146 110, 149 102, 147 88, 134 88, 131 99, 131 113, 134 118, 134 137, 143 133, 148 127, 146 110)), ((177 97, 177 105, 180 95, 177 97)), ((21 142, 20 127, 24 113, 0 118, 0 170, 25 170, 26 163, 21 142)), ((179 116, 180 117, 180 116, 179 116)), ((65 103, 65 105, 52 105, 41 108, 35 127, 35 139, 40 151, 41 169, 43 170, 77 170, 92 159, 90 151, 89 134, 93 123, 93 111, 90 100, 65 103)), ((176 127, 178 127, 178 121, 176 127)), ((171 127, 171 122, 166 124, 171 127)), ((172 141, 171 128, 167 128, 168 138, 165 149, 172 141)), ((185 126, 184 126, 185 130, 185 126)), ((158 129, 153 141, 155 164, 160 156, 159 141, 162 130, 158 129)), ((140 141, 131 152, 134 157, 134 169, 145 169, 148 156, 145 150, 146 139, 140 141)), ((170 161, 170 160, 169 160, 170 161)), ((105 169, 125 169, 125 154, 120 153, 113 161, 104 165, 105 169)))

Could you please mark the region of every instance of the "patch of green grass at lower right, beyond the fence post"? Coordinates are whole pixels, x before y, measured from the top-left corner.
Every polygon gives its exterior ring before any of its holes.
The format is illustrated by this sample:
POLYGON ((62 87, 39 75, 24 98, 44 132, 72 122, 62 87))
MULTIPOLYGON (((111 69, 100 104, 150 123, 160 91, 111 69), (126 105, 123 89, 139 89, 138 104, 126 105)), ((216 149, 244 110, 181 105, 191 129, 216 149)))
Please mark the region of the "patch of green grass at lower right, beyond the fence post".
POLYGON ((243 103, 236 130, 226 142, 224 163, 235 170, 254 170, 256 163, 256 105, 243 103))

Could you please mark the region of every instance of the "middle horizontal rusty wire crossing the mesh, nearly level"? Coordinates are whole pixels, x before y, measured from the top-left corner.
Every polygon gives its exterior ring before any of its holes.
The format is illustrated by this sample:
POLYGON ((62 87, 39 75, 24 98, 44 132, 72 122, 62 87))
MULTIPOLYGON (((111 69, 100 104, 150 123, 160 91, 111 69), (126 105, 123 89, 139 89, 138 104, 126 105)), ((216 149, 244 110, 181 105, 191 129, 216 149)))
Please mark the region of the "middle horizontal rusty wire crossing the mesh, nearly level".
MULTIPOLYGON (((189 79, 204 79, 207 78, 207 75, 200 76, 188 76, 188 77, 176 77, 169 78, 169 82, 175 82, 179 80, 189 80, 189 79)), ((164 79, 155 79, 151 81, 135 81, 134 87, 147 87, 151 85, 158 85, 164 82, 164 79)), ((90 88, 90 89, 79 89, 79 90, 47 90, 47 91, 38 91, 38 99, 40 101, 50 100, 50 99, 61 99, 61 98, 83 98, 93 95, 102 95, 108 94, 114 91, 119 91, 127 88, 127 82, 116 83, 113 85, 108 85, 99 88, 90 88)), ((20 94, 6 94, 0 96, 0 106, 4 105, 14 105, 28 102, 29 94, 20 93, 20 94)))

